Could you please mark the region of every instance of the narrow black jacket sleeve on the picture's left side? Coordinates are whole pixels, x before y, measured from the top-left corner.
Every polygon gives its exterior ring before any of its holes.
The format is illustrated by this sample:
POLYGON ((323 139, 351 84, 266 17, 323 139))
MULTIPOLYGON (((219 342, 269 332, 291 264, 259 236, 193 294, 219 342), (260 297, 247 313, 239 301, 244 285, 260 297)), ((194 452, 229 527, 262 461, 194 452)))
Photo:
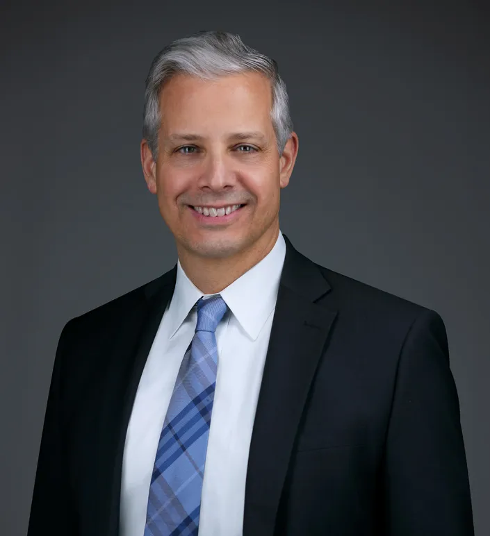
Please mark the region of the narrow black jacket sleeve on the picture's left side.
POLYGON ((63 435, 63 361, 70 322, 63 328, 56 349, 35 474, 28 536, 78 534, 63 435))

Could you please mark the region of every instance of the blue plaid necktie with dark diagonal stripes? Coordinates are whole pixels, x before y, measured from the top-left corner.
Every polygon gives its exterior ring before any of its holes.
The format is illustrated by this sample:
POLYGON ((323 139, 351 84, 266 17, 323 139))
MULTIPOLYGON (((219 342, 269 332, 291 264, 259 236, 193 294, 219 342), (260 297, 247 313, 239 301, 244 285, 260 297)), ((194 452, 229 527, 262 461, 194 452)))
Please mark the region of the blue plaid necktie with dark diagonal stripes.
POLYGON ((197 302, 197 326, 183 356, 158 442, 145 536, 196 536, 213 409, 215 329, 227 310, 218 294, 197 302))

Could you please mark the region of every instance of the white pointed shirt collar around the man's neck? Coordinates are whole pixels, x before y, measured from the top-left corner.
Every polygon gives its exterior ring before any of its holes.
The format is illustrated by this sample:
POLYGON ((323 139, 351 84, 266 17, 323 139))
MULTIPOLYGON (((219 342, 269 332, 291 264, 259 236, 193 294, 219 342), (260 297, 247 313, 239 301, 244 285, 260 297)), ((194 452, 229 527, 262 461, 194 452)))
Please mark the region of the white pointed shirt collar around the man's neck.
MULTIPOLYGON (((275 308, 279 280, 286 256, 286 242, 279 231, 276 243, 270 252, 245 274, 234 280, 219 294, 229 310, 252 340, 256 340, 270 313, 275 308)), ((188 278, 177 261, 177 279, 169 305, 170 338, 179 330, 190 310, 204 294, 188 278)))

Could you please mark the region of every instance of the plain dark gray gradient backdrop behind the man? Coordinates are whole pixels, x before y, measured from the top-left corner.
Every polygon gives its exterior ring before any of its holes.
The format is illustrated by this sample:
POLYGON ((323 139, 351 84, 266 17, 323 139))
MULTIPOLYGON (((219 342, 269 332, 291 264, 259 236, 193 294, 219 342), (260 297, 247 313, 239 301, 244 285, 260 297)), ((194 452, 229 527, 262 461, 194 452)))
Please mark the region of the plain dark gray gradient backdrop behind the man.
POLYGON ((443 317, 490 534, 489 8, 393 3, 2 4, 1 535, 26 533, 61 328, 176 262, 140 169, 144 81, 202 29, 279 62, 300 137, 293 245, 443 317))

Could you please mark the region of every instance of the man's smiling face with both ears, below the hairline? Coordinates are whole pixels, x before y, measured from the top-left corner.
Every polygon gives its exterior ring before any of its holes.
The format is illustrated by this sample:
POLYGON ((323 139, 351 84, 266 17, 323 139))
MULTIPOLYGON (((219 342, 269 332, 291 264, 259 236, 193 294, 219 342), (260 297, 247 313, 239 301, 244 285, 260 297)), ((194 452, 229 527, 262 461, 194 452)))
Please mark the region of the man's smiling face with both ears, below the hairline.
POLYGON ((271 99, 270 82, 256 73, 178 74, 163 88, 158 158, 143 140, 142 165, 178 251, 224 258, 277 236, 297 137, 279 157, 271 99))

